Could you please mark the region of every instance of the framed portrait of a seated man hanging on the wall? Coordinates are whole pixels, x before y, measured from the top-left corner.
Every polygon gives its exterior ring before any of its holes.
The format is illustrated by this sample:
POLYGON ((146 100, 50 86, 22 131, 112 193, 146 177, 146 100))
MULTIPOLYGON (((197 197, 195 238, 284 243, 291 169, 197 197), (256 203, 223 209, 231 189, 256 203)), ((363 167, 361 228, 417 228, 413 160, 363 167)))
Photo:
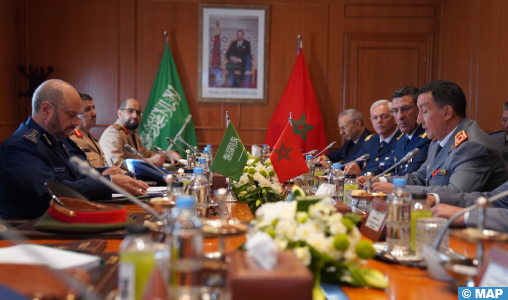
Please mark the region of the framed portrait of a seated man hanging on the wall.
POLYGON ((268 5, 199 5, 198 102, 267 102, 269 14, 268 5))

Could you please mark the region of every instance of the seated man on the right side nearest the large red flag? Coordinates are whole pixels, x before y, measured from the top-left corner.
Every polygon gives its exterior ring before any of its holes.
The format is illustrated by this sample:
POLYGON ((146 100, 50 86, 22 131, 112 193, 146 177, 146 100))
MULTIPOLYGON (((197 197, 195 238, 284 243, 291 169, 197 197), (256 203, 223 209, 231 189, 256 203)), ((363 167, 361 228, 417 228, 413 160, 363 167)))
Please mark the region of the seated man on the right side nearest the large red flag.
POLYGON ((363 124, 362 113, 356 109, 346 109, 339 114, 340 135, 344 138, 341 148, 327 155, 319 157, 319 162, 330 160, 331 162, 348 163, 363 146, 363 142, 370 135, 370 131, 363 124))

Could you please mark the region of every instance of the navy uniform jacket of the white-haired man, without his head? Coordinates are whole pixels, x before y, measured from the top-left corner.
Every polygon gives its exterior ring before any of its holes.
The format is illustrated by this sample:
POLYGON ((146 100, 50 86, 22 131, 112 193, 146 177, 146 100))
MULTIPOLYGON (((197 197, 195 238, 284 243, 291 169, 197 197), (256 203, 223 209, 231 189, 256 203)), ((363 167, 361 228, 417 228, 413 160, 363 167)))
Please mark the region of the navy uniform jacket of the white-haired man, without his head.
MULTIPOLYGON (((402 136, 402 132, 397 129, 395 135, 390 140, 388 144, 384 146, 381 151, 379 151, 379 134, 373 134, 368 136, 363 143, 360 151, 356 153, 353 159, 357 159, 364 154, 370 154, 370 158, 367 160, 367 164, 362 168, 364 172, 377 172, 379 173, 378 168, 382 167, 385 162, 393 155, 393 150, 395 149, 395 144, 397 144, 398 139, 402 136)), ((361 166, 362 163, 360 162, 361 166)), ((376 174, 377 174, 376 173, 376 174)))

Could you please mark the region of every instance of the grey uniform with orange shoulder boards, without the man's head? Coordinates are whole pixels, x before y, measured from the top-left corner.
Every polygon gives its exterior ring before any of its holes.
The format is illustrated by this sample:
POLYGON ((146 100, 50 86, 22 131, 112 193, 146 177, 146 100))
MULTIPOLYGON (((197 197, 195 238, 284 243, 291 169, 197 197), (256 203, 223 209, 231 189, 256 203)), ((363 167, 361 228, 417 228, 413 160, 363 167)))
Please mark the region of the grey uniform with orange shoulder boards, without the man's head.
MULTIPOLYGON (((393 182, 396 176, 386 178, 393 182)), ((464 118, 442 150, 433 141, 425 163, 405 178, 411 193, 458 193, 492 191, 508 181, 508 172, 494 141, 476 121, 464 118)))

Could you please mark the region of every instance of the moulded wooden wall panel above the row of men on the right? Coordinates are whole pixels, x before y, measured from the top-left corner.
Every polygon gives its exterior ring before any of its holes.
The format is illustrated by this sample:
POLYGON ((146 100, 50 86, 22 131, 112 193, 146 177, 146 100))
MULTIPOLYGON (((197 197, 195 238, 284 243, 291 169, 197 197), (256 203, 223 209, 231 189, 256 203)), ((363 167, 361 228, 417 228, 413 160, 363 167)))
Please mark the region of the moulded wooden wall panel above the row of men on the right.
POLYGON ((430 73, 431 43, 432 36, 346 35, 346 108, 358 109, 368 120, 374 101, 391 100, 403 85, 422 86, 430 73))

